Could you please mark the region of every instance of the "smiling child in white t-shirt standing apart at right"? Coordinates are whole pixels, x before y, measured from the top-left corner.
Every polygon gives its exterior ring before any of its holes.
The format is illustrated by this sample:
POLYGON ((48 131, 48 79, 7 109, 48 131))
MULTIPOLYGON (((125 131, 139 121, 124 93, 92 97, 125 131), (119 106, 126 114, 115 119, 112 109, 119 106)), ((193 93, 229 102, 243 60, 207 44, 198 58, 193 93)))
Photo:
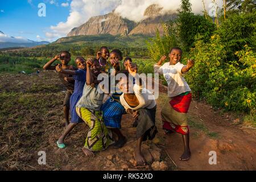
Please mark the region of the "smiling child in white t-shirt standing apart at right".
POLYGON ((180 160, 189 160, 191 151, 189 148, 187 112, 192 100, 192 94, 183 74, 193 67, 194 61, 188 60, 187 65, 181 64, 181 56, 182 51, 179 47, 172 48, 169 53, 170 62, 161 67, 163 61, 167 58, 163 56, 154 65, 154 72, 163 74, 168 83, 168 97, 170 99, 163 105, 161 111, 163 129, 182 134, 184 152, 180 156, 180 160))

